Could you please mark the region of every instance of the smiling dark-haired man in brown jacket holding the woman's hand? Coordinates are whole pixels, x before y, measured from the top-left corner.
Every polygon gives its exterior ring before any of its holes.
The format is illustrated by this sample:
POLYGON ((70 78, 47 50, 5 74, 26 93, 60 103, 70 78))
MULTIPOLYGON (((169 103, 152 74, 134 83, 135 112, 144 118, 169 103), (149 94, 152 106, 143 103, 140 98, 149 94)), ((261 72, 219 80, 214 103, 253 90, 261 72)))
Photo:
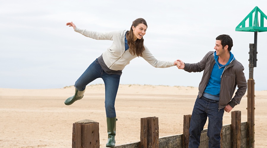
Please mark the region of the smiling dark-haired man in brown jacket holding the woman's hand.
POLYGON ((216 38, 215 51, 208 52, 200 62, 188 64, 182 60, 177 61, 177 67, 187 72, 204 70, 190 122, 189 148, 199 146, 200 134, 207 117, 209 147, 219 148, 223 113, 230 112, 240 104, 247 90, 244 67, 230 52, 232 46, 232 38, 223 34, 216 38), (238 89, 232 98, 236 86, 238 89))

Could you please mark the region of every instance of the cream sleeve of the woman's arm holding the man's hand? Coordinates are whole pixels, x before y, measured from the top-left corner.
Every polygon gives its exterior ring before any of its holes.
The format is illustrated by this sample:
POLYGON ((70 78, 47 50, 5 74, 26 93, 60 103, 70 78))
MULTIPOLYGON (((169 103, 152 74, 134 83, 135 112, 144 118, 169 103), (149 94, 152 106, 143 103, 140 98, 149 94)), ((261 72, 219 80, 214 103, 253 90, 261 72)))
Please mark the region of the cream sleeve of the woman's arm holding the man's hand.
POLYGON ((156 68, 167 68, 167 67, 171 67, 174 66, 174 62, 169 62, 169 61, 160 61, 157 60, 152 54, 151 52, 147 49, 146 46, 145 50, 143 52, 142 58, 145 59, 150 65, 156 67, 156 68))

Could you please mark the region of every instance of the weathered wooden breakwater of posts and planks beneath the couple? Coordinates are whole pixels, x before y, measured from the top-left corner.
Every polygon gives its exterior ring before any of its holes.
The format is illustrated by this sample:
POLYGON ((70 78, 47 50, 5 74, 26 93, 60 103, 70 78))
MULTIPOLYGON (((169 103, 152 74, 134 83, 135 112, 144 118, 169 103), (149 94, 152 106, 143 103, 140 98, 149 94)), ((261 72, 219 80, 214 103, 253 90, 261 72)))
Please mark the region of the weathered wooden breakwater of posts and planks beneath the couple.
MULTIPOLYGON (((184 115, 183 134, 159 138, 158 117, 141 118, 140 141, 115 148, 186 148, 189 143, 191 115, 184 115)), ((99 148, 99 124, 92 120, 73 123, 73 148, 99 148)), ((247 122, 241 123, 241 111, 231 112, 231 124, 222 126, 222 148, 247 147, 247 122)), ((201 132, 199 148, 208 148, 207 129, 201 132)))

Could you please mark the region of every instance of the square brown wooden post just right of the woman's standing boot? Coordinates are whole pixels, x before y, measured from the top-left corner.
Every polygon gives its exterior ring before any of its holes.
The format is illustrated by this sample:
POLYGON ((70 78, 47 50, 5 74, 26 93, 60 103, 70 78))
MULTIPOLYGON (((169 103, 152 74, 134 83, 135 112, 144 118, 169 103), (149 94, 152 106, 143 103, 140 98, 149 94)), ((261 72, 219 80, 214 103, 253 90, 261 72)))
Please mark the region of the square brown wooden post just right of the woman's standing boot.
POLYGON ((141 118, 141 148, 158 148, 158 117, 141 118))

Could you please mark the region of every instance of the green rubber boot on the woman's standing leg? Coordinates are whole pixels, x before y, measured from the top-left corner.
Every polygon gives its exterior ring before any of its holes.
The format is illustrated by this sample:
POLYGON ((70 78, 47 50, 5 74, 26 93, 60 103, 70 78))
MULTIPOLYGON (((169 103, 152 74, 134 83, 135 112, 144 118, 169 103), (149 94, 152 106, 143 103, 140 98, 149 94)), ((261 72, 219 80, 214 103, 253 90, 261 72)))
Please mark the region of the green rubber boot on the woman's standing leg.
POLYGON ((106 147, 115 147, 116 121, 116 117, 107 118, 108 142, 106 147))

